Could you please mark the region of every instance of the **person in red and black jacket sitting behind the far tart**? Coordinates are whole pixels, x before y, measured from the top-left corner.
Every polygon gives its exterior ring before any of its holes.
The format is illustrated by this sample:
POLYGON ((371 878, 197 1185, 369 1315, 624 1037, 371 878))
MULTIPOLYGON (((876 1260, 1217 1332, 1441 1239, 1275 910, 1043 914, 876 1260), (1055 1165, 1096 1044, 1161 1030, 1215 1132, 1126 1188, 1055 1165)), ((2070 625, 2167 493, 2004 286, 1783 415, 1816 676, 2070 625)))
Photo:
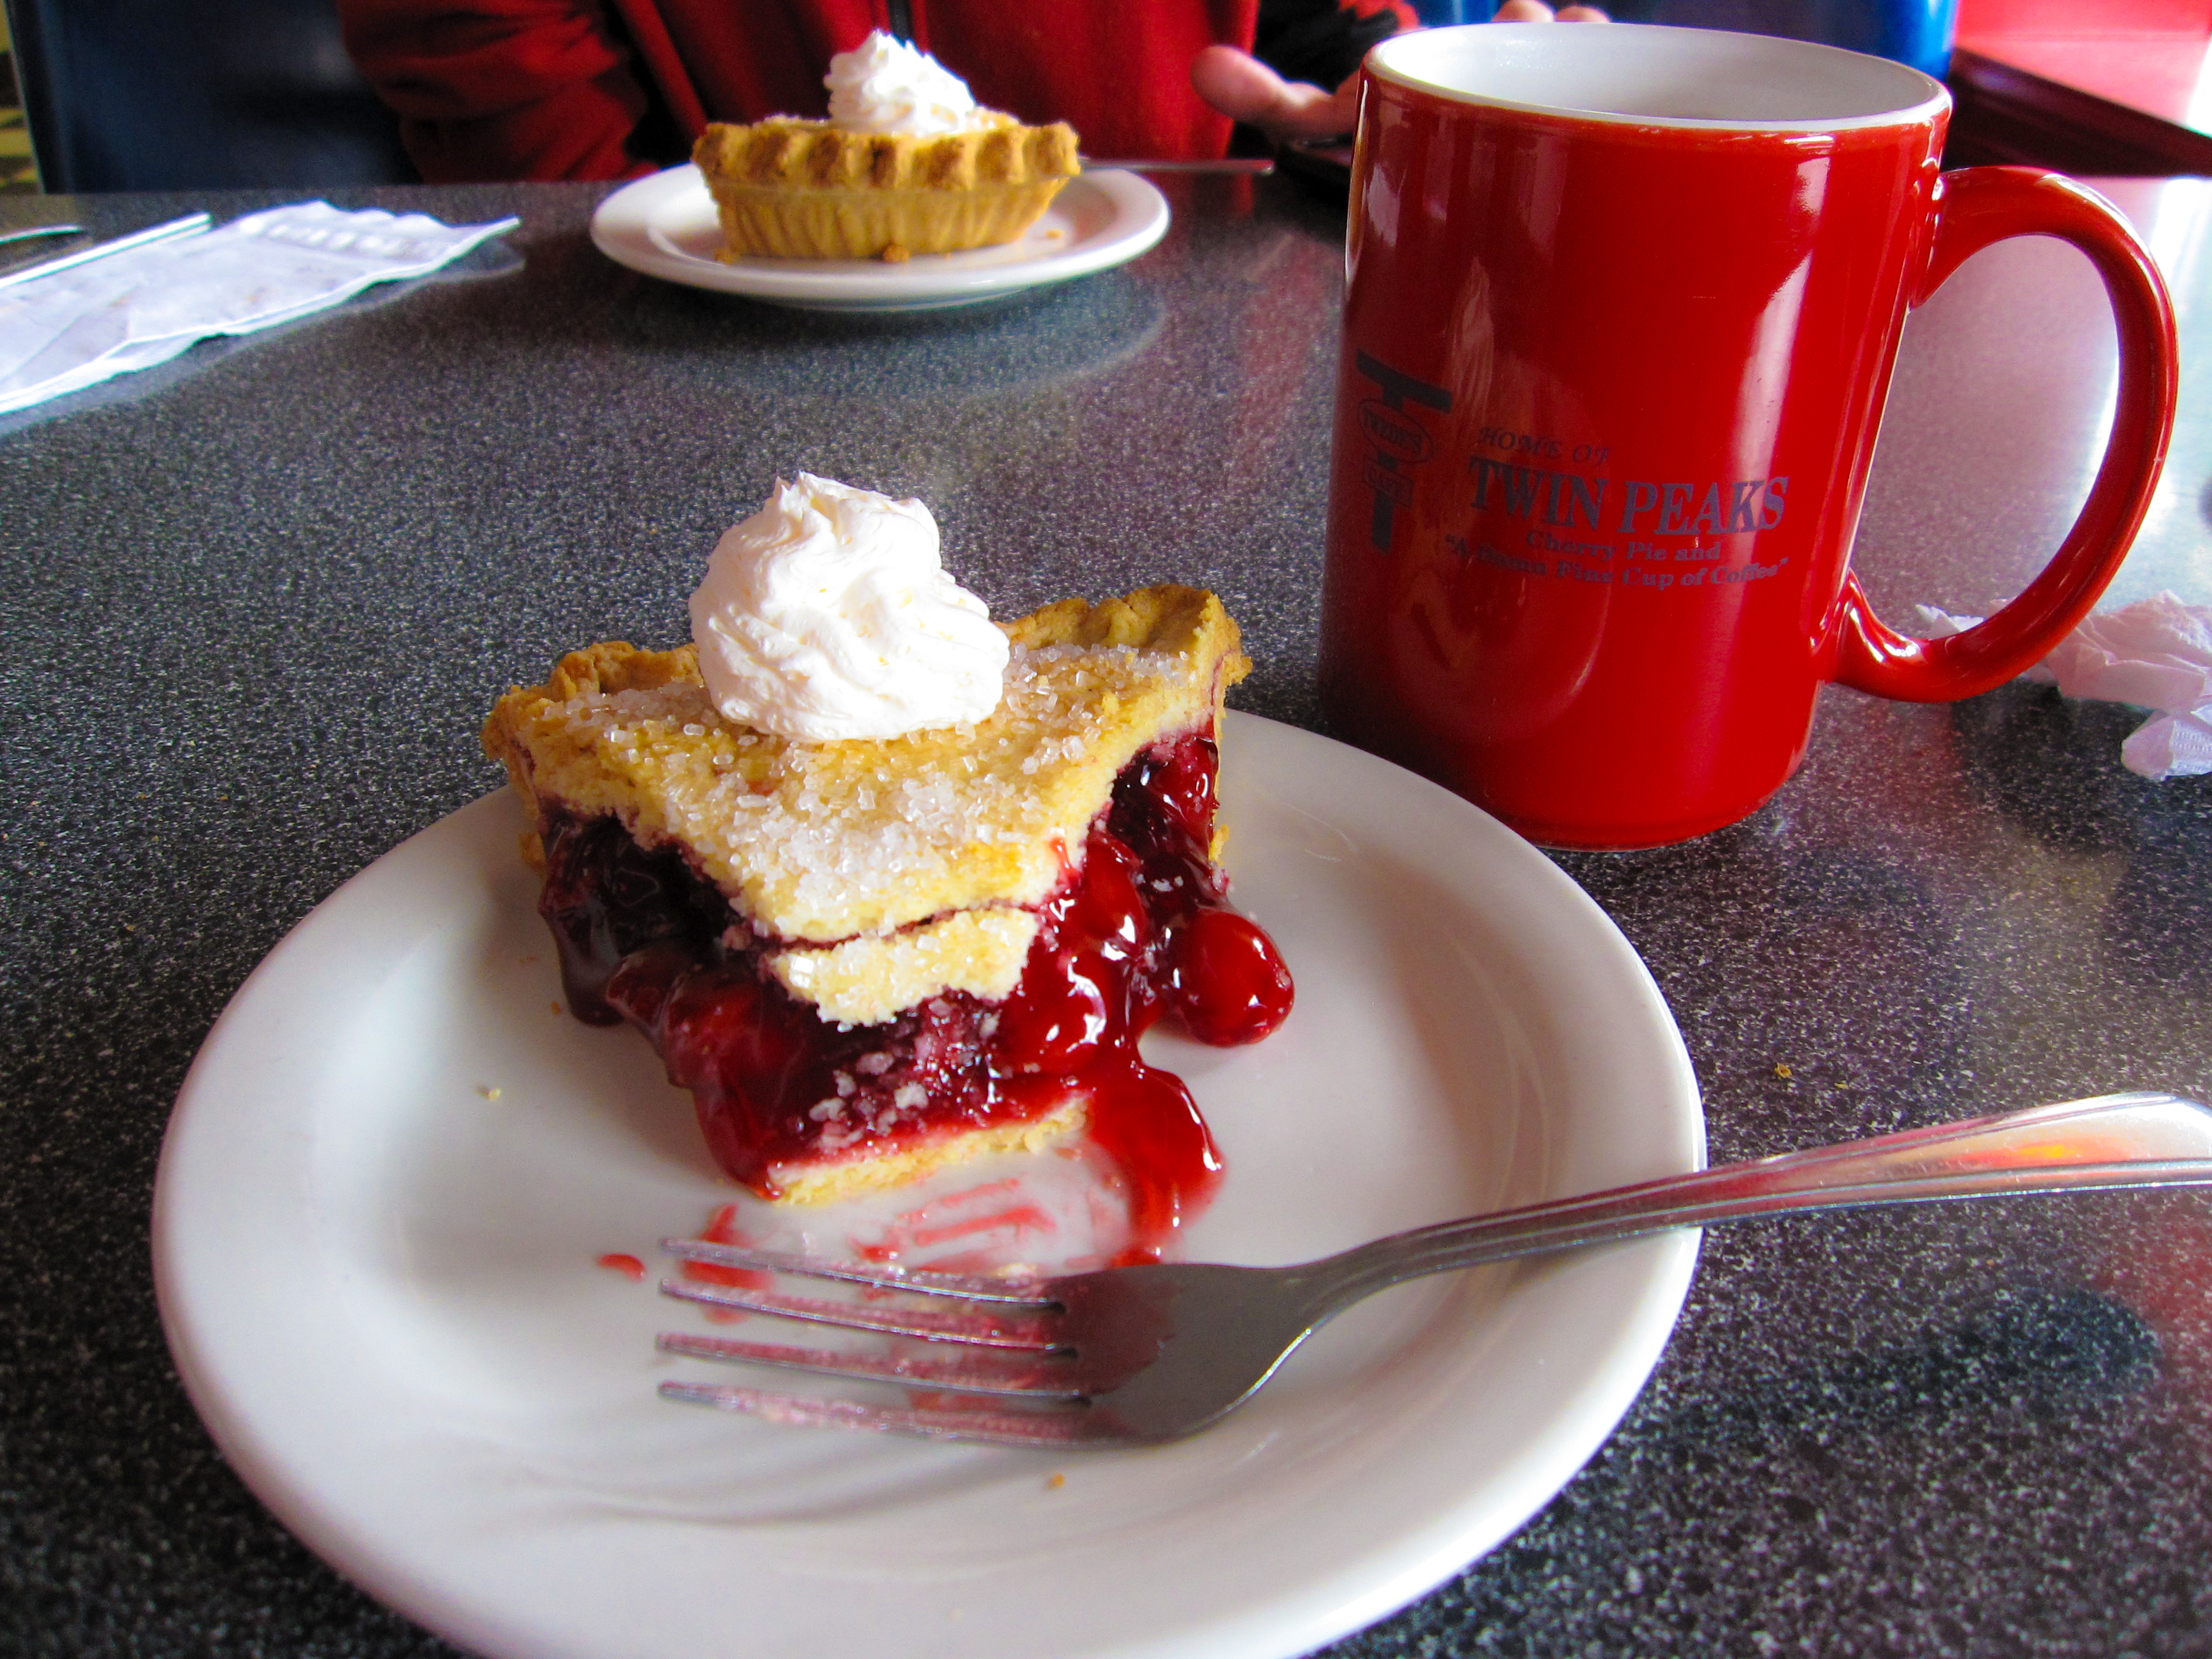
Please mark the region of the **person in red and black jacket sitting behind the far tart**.
POLYGON ((338 0, 338 18, 431 184, 628 179, 708 122, 821 117, 830 58, 885 27, 978 104, 1068 122, 1088 155, 1217 157, 1237 122, 1349 131, 1358 60, 1411 24, 1407 0, 338 0))

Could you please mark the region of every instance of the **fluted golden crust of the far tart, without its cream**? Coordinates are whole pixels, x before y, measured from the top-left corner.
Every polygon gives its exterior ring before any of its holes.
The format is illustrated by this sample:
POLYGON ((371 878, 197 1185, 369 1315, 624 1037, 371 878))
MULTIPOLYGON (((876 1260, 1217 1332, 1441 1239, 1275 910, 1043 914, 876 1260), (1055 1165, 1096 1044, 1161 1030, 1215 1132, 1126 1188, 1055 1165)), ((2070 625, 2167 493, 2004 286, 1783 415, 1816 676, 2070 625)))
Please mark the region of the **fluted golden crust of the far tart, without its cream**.
POLYGON ((847 133, 772 117, 692 146, 721 215, 721 259, 907 259, 1029 230, 1082 170, 1075 128, 987 111, 967 133, 847 133))

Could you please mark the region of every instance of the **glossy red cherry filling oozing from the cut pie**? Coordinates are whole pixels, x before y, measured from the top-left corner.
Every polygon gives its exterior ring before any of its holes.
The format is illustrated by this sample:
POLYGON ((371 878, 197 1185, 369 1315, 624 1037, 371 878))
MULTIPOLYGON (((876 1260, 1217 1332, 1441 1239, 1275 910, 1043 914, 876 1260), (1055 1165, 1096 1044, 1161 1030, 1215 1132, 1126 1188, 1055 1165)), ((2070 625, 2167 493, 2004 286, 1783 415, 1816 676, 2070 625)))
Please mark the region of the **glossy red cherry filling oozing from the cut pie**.
POLYGON ((1281 956, 1225 909, 1206 856, 1217 765, 1192 734, 1124 768, 998 1004, 947 991, 885 1024, 830 1024, 763 971, 761 945, 681 852, 639 847, 611 816, 549 812, 538 907, 575 1015, 644 1031, 692 1091, 714 1161, 757 1192, 774 1197, 779 1164, 896 1152, 1082 1095, 1137 1241, 1157 1248, 1212 1192, 1221 1157, 1137 1037, 1172 1004, 1201 1042, 1254 1042, 1292 1004, 1281 956))

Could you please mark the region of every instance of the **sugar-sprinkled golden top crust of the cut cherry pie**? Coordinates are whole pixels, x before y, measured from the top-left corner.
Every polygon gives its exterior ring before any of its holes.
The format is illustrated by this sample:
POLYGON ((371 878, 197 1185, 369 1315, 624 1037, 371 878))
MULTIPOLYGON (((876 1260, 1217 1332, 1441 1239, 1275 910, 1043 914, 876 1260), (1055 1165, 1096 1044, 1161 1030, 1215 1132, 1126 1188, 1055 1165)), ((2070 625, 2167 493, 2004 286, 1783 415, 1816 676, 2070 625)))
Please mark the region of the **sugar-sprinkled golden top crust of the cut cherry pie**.
MULTIPOLYGON (((1210 732, 1250 670, 1237 624, 1197 588, 1062 599, 1006 633, 1006 695, 973 726, 770 737, 714 712, 690 646, 613 641, 509 690, 484 752, 533 816, 551 799, 684 847, 825 1020, 874 1024, 947 989, 1000 998, 1121 768, 1166 734, 1210 732)), ((524 856, 544 867, 542 847, 524 856)))

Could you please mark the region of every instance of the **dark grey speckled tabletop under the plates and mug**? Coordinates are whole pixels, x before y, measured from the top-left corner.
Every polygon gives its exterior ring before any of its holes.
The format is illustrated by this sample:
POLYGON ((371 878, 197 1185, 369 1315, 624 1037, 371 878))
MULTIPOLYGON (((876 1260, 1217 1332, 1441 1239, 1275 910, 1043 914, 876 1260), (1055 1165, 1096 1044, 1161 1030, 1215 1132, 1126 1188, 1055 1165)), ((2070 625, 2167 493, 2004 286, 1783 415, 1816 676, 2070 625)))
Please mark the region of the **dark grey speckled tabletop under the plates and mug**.
MULTIPOLYGON (((493 783, 489 699, 580 639, 677 637, 703 549, 776 469, 922 495, 1002 611, 1214 586, 1259 664, 1234 701, 1314 721, 1340 219, 1287 181, 1170 195, 1166 246, 1121 272, 891 323, 619 272, 582 186, 369 195, 513 208, 520 261, 0 418, 0 1650, 445 1652, 292 1542, 177 1387, 146 1254, 164 1117, 252 964, 493 783)), ((2112 599, 2205 602, 2212 184, 2119 195, 2190 378, 2112 599)), ((1860 540, 1885 613, 2020 586, 2079 500, 2108 372, 2055 246, 1978 259, 1916 319, 1860 540)), ((2212 781, 2124 772, 2135 719, 2028 686, 1829 692, 1752 821, 1559 860, 1672 1002, 1717 1161, 2212 1093, 2212 781)), ((1590 1467, 1332 1652, 2212 1652, 2208 1555, 2208 1201, 1756 1225, 1708 1239, 1590 1467)))

